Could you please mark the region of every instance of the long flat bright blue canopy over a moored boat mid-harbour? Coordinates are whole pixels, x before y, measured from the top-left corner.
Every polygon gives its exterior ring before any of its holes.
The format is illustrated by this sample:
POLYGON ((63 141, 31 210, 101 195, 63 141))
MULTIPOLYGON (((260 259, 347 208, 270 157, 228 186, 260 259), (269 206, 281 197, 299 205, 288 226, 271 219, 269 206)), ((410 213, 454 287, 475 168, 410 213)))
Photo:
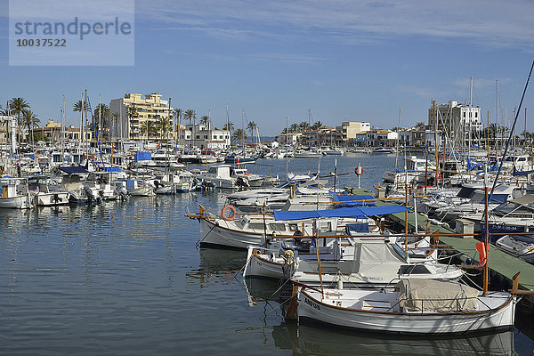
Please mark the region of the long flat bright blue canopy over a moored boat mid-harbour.
POLYGON ((326 210, 275 210, 274 219, 279 220, 302 220, 302 219, 316 219, 319 217, 358 217, 372 215, 387 215, 409 211, 406 206, 391 205, 391 206, 350 206, 340 207, 337 209, 326 210))

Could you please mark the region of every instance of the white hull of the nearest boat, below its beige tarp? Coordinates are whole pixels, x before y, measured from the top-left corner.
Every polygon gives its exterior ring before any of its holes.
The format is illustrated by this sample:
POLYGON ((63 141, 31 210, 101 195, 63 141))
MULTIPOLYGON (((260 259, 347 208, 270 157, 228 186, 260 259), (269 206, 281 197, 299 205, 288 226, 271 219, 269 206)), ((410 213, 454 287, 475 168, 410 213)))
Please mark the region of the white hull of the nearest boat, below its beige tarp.
MULTIPOLYGON (((337 294, 346 295, 347 290, 333 290, 337 294)), ((368 291, 350 291, 365 294, 368 291)), ((368 292, 368 302, 383 300, 380 292, 368 292)), ((313 290, 300 291, 298 294, 299 322, 319 321, 344 328, 358 328, 370 331, 401 333, 401 334, 461 334, 478 332, 485 329, 512 328, 514 326, 515 301, 507 293, 494 293, 493 309, 484 312, 387 312, 387 307, 351 309, 336 306, 342 304, 336 296, 322 300, 320 292, 313 290), (500 297, 499 297, 500 295, 500 297), (497 305, 496 299, 497 298, 497 305)), ((361 295, 363 298, 366 296, 361 295)), ((479 297, 479 299, 482 297, 479 297)), ((485 301, 488 303, 488 300, 485 301)), ((363 301, 365 303, 365 301, 363 301)), ((392 300, 393 304, 395 303, 392 300)), ((480 303, 480 302, 479 302, 480 303)), ((376 304, 376 303, 375 303, 376 304)), ((386 303, 383 303, 386 305, 386 303)), ((393 305, 392 305, 393 306, 393 305)), ((361 307, 363 308, 363 307, 361 307)))

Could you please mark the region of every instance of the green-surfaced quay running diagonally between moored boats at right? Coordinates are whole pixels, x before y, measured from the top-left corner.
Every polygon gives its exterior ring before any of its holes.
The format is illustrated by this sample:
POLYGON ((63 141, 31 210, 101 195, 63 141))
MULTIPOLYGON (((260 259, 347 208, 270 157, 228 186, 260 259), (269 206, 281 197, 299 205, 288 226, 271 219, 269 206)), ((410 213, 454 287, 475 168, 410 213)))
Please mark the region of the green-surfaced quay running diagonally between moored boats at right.
MULTIPOLYGON (((350 194, 364 195, 372 194, 371 190, 365 190, 360 188, 345 188, 350 194)), ((391 205, 387 201, 376 200, 376 206, 391 205)), ((405 213, 389 214, 386 219, 390 223, 405 226, 405 213)), ((409 231, 415 231, 416 218, 413 211, 408 212, 408 227, 409 231)), ((443 234, 453 234, 456 231, 451 231, 449 228, 441 225, 437 225, 428 220, 424 214, 417 214, 417 230, 418 231, 440 231, 443 234)), ((479 240, 474 239, 473 236, 453 237, 453 236, 440 236, 441 244, 450 248, 454 253, 463 254, 462 261, 467 261, 467 258, 473 262, 478 261, 478 253, 475 248, 475 244, 479 240)), ((534 289, 534 265, 526 263, 523 260, 516 258, 512 255, 508 255, 503 251, 500 251, 497 247, 490 245, 490 284, 495 287, 508 289, 512 287, 512 277, 515 273, 521 272, 519 276, 519 284, 522 289, 534 289)), ((522 298, 520 309, 523 312, 534 313, 534 295, 525 295, 522 298)))

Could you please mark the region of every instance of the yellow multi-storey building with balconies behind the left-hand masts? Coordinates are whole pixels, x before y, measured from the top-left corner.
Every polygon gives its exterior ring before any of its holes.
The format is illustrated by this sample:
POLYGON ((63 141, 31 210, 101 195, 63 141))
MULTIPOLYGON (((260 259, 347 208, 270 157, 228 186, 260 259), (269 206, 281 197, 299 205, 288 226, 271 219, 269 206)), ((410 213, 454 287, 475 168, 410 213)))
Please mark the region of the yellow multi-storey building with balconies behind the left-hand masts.
POLYGON ((159 93, 142 96, 125 93, 124 98, 109 102, 111 135, 114 138, 132 140, 154 140, 161 138, 159 129, 163 121, 169 122, 167 138, 174 137, 173 108, 162 100, 159 93))

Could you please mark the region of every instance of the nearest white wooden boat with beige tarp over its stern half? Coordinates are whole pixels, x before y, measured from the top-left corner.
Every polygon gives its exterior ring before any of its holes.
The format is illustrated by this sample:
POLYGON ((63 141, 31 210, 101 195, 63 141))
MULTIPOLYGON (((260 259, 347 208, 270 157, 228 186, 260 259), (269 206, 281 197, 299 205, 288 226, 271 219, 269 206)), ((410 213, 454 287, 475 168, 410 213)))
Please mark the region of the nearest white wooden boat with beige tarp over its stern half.
MULTIPOLYGON (((517 275, 514 276, 514 291, 517 275)), ((514 294, 460 283, 402 279, 395 291, 319 289, 297 293, 299 323, 320 322, 381 333, 465 334, 514 327, 514 294)))

